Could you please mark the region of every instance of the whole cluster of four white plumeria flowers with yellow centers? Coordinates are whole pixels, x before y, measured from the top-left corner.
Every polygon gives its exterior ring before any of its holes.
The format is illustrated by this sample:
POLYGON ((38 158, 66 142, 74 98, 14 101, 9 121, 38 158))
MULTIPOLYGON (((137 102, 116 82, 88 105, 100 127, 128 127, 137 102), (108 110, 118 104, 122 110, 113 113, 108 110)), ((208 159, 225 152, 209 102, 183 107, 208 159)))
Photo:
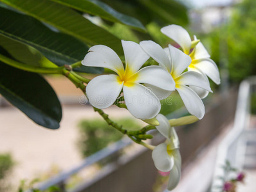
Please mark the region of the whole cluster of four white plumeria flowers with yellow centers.
POLYGON ((151 40, 140 44, 122 40, 124 63, 113 49, 95 45, 89 49, 82 65, 104 67, 114 72, 97 76, 87 84, 86 95, 93 107, 104 109, 116 101, 124 101, 125 108, 135 118, 154 122, 152 125, 156 125, 166 138, 165 143, 154 148, 152 159, 158 170, 170 172, 168 189, 171 190, 180 179, 181 156, 174 127, 159 114, 160 100, 177 91, 188 112, 197 120, 201 119, 205 115, 201 99, 212 92, 208 77, 216 84, 220 83, 220 78, 217 66, 196 36, 192 41, 188 32, 176 25, 166 26, 161 32, 181 49, 170 44, 163 48, 151 40), (158 65, 143 67, 149 58, 158 65))

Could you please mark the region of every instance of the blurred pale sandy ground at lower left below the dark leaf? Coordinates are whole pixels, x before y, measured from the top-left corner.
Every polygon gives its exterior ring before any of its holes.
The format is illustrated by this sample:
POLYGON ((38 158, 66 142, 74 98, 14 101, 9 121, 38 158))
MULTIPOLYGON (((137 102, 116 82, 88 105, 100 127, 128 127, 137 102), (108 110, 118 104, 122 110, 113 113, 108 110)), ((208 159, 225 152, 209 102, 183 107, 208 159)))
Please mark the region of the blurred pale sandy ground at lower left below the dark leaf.
MULTIPOLYGON (((131 116, 125 109, 105 109, 110 117, 131 116)), ((82 119, 101 118, 89 106, 64 106, 60 129, 33 123, 16 108, 0 108, 0 153, 11 152, 16 161, 12 183, 32 180, 49 172, 72 168, 82 160, 77 148, 77 124, 82 119)))

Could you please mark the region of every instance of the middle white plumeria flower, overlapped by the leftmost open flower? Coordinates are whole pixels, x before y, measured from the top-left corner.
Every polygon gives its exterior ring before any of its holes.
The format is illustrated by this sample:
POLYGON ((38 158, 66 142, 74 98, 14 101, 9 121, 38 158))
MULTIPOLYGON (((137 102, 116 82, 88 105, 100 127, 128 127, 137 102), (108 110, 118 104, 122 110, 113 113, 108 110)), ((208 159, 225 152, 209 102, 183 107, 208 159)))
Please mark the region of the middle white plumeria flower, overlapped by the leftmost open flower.
MULTIPOLYGON (((179 92, 188 112, 199 119, 203 118, 205 115, 205 106, 197 93, 188 86, 203 88, 208 92, 212 92, 212 90, 202 74, 194 71, 188 71, 182 74, 188 65, 190 65, 191 58, 172 45, 169 45, 169 48, 166 49, 162 49, 160 45, 152 41, 143 41, 140 42, 140 45, 149 56, 172 75, 176 84, 176 90, 179 92)), ((172 84, 172 81, 170 83, 172 84)), ((154 88, 152 90, 156 92, 154 88)), ((161 92, 168 93, 166 90, 161 90, 161 92)), ((163 95, 163 93, 161 94, 163 95)))

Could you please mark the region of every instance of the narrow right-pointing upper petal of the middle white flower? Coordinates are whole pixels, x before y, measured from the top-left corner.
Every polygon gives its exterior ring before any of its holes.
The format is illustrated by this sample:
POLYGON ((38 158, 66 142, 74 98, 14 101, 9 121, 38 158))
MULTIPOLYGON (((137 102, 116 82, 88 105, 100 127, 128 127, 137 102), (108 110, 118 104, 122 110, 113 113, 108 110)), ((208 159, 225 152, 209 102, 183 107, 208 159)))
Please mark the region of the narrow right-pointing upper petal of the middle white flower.
POLYGON ((207 81, 202 74, 199 74, 199 72, 185 72, 181 74, 181 76, 179 76, 177 79, 175 79, 175 81, 176 84, 197 86, 207 90, 208 92, 212 92, 209 81, 207 81))

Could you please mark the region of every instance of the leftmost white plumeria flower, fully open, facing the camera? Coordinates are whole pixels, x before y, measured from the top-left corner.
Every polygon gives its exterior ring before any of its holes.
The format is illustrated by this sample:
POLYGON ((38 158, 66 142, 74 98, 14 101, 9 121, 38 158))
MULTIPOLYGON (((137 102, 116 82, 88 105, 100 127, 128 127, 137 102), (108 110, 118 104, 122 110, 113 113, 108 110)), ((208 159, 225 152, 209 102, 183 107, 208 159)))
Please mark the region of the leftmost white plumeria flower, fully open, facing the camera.
POLYGON ((109 68, 117 74, 92 79, 86 87, 89 102, 95 108, 108 108, 123 90, 125 104, 133 116, 142 120, 153 118, 160 112, 160 100, 151 89, 140 83, 171 91, 175 89, 174 83, 169 83, 172 77, 159 66, 140 69, 149 59, 140 45, 122 40, 122 46, 125 68, 116 52, 105 45, 95 45, 86 54, 83 65, 109 68))

